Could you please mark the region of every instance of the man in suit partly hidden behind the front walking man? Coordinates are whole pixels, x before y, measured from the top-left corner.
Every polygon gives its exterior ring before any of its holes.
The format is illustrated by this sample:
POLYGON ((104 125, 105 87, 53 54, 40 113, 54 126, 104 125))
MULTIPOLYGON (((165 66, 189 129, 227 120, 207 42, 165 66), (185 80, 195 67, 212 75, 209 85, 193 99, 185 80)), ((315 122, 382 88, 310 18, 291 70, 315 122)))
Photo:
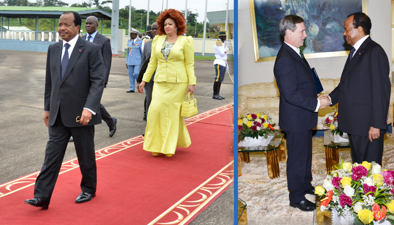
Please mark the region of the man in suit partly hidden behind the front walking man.
MULTIPOLYGON (((88 40, 95 44, 98 44, 101 49, 101 55, 103 56, 104 61, 104 88, 107 86, 108 77, 110 76, 111 70, 111 62, 112 62, 112 50, 111 50, 111 42, 110 38, 101 35, 98 31, 98 19, 96 16, 89 16, 85 21, 85 29, 87 34, 83 35, 82 39, 88 40)), ((100 104, 100 114, 101 119, 110 127, 110 137, 114 136, 116 132, 116 123, 117 119, 115 117, 111 117, 111 115, 107 112, 104 105, 100 104)))

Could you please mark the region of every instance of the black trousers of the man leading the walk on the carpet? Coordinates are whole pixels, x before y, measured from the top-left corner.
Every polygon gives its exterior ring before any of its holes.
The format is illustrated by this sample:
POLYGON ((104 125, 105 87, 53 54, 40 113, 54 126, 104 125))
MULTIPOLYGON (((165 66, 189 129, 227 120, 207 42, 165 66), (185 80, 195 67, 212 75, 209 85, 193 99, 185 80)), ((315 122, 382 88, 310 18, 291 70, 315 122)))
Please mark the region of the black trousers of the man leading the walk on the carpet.
POLYGON ((73 136, 75 151, 81 170, 81 190, 95 193, 97 185, 97 167, 94 148, 94 126, 66 127, 61 122, 60 109, 55 124, 49 126, 49 141, 45 149, 45 160, 38 174, 34 197, 50 202, 53 189, 63 162, 65 149, 73 136))

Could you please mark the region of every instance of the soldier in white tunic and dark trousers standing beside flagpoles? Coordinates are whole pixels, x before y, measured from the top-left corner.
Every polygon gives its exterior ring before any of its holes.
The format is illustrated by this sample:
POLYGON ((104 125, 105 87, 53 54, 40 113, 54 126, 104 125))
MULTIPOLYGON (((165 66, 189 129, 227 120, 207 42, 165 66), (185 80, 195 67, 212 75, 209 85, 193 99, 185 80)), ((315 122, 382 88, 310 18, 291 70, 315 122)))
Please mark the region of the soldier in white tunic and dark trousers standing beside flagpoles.
POLYGON ((227 65, 227 52, 230 51, 231 42, 228 41, 225 44, 226 40, 226 31, 219 31, 219 39, 215 44, 215 61, 213 61, 213 65, 215 66, 216 77, 215 82, 213 83, 213 99, 222 100, 224 97, 220 96, 220 86, 222 85, 224 75, 226 71, 228 71, 227 65))

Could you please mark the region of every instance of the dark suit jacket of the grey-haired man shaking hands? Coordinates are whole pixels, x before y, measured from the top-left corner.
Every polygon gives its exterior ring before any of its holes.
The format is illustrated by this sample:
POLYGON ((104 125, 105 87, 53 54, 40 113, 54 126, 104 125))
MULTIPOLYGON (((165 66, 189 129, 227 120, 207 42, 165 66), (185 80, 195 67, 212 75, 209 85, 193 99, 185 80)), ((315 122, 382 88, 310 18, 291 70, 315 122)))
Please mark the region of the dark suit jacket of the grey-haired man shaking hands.
POLYGON ((280 93, 280 128, 290 132, 313 129, 317 124, 317 94, 310 66, 283 43, 276 56, 274 75, 280 93))

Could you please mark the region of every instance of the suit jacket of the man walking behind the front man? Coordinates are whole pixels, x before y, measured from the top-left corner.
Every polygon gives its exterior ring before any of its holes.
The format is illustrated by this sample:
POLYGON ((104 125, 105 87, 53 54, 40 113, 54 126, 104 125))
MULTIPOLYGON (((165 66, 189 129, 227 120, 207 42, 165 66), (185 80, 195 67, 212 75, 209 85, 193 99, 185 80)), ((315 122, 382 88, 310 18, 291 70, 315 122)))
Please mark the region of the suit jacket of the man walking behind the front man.
MULTIPOLYGON (((82 36, 82 39, 86 40, 86 34, 82 36)), ((97 32, 93 39, 93 43, 98 44, 101 49, 101 55, 104 61, 104 83, 108 83, 108 78, 110 77, 111 62, 112 62, 112 49, 110 38, 105 37, 97 32)))

